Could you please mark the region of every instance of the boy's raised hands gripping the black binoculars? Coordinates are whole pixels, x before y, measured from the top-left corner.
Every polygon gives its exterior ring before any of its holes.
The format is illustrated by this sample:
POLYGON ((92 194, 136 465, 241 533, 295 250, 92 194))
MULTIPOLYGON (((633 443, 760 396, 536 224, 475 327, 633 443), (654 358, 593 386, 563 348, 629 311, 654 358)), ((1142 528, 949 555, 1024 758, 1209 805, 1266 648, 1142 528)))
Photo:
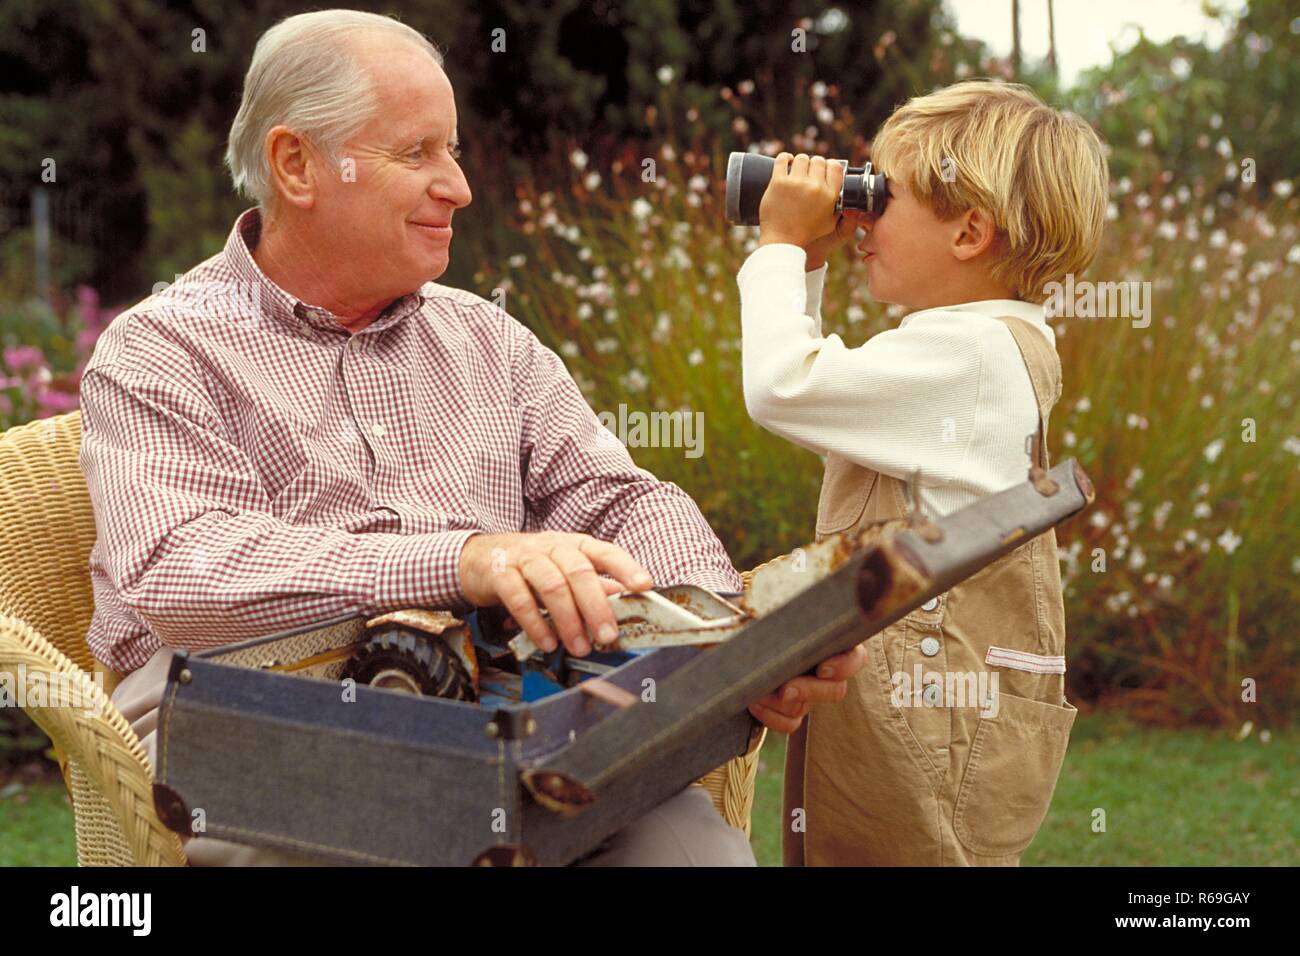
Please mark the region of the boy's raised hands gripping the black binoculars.
POLYGON ((863 216, 855 209, 836 212, 844 174, 842 164, 824 156, 780 153, 758 207, 758 245, 798 246, 807 254, 803 268, 820 269, 831 252, 854 237, 863 216))

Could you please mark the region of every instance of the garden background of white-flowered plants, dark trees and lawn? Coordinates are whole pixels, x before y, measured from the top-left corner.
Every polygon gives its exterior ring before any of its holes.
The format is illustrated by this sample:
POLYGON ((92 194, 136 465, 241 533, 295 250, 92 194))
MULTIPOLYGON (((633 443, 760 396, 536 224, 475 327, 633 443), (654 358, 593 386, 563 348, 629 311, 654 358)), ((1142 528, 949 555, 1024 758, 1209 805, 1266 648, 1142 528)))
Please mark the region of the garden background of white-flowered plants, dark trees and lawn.
MULTIPOLYGON (((1026 862, 1297 861, 1291 5, 1209 7, 1228 25, 1221 47, 1140 38, 1069 87, 1050 59, 998 59, 959 35, 939 0, 354 5, 446 51, 474 200, 441 281, 504 295, 597 411, 703 412, 703 455, 630 451, 696 498, 742 568, 811 538, 820 462, 745 412, 734 274, 755 235, 724 222, 727 153, 861 163, 894 104, 975 75, 1026 82, 1093 122, 1113 195, 1083 278, 1149 281, 1153 311, 1148 328, 1054 320, 1052 454, 1079 459, 1097 502, 1058 529, 1083 713, 1026 862)), ((220 251, 246 208, 222 166, 243 72, 256 38, 303 9, 0 8, 0 428, 75 408, 113 316, 220 251)), ((848 255, 823 312, 850 345, 902 315, 871 300, 848 255)), ((779 860, 781 745, 763 754, 760 862, 779 860)), ((0 864, 74 862, 47 747, 0 709, 0 864)))

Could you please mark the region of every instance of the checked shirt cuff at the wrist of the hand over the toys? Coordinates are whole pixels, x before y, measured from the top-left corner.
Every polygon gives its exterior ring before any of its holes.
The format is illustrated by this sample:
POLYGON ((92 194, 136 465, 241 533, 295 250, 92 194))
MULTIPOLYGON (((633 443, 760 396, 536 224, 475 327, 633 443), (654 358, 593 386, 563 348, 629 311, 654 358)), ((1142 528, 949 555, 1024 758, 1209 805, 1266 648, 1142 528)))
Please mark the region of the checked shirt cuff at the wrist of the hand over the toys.
POLYGON ((380 557, 374 576, 377 613, 404 607, 468 607, 460 589, 460 551, 477 531, 400 537, 380 557))

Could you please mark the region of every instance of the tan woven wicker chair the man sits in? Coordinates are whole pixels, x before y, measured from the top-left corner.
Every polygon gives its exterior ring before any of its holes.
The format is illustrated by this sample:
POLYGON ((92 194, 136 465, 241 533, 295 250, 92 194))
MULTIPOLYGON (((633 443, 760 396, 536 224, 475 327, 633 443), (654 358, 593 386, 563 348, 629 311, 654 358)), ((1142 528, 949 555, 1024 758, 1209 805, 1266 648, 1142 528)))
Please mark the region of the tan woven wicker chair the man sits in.
MULTIPOLYGON (((120 675, 86 645, 94 610, 95 518, 78 464, 81 412, 0 434, 0 672, 78 682, 79 706, 27 706, 58 754, 82 866, 185 866, 179 838, 153 809, 152 769, 113 706, 120 675), (91 678, 103 674, 103 692, 91 678)), ((69 685, 69 684, 65 684, 69 685)), ((57 701, 55 701, 57 704, 57 701)), ((750 832, 760 741, 702 780, 719 813, 750 832)))

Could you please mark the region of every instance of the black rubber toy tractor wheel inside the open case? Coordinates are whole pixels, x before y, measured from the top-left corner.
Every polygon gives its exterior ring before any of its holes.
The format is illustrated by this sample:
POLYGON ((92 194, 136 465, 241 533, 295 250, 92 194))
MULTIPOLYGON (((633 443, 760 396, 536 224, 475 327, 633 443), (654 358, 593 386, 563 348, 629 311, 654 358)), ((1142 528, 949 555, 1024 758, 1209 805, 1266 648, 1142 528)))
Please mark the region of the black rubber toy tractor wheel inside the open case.
POLYGON ((343 671, 359 684, 472 701, 473 682, 446 644, 403 627, 373 633, 343 671))

